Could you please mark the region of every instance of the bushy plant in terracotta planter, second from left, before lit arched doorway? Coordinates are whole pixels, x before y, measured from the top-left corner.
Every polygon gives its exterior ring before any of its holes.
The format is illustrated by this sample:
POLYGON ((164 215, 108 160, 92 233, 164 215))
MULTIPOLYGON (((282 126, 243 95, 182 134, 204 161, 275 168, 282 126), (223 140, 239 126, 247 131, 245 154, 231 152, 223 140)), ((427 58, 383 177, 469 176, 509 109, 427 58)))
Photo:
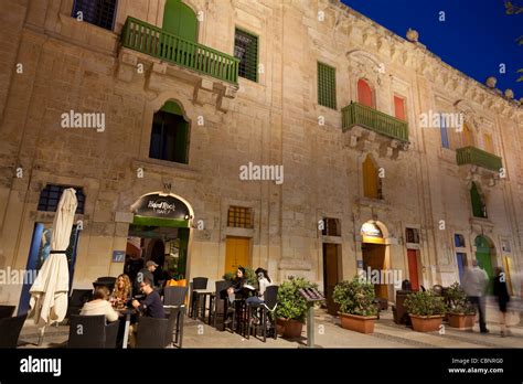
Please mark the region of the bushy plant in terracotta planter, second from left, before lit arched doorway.
POLYGON ((357 276, 334 287, 333 300, 340 305, 341 327, 361 333, 374 332, 377 308, 374 286, 357 276))

